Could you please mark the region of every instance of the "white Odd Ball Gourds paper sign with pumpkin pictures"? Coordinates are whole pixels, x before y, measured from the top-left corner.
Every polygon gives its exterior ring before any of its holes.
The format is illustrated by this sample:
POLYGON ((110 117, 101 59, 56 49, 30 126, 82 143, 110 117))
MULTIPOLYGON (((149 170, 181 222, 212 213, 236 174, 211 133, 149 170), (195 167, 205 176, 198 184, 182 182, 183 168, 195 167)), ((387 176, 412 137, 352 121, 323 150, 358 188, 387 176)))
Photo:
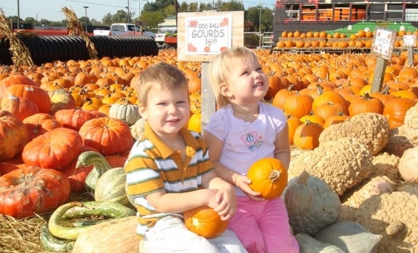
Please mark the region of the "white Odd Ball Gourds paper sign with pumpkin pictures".
POLYGON ((232 16, 186 18, 186 54, 218 54, 232 46, 232 16))

